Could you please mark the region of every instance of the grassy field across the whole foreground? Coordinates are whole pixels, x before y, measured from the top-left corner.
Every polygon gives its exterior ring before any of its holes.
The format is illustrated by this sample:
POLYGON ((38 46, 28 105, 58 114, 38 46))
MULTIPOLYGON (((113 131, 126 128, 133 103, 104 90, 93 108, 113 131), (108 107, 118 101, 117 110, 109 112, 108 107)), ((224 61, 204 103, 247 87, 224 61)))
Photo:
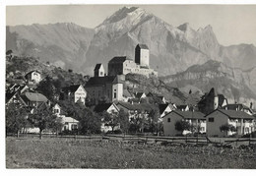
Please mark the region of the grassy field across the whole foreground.
POLYGON ((250 148, 164 147, 74 139, 6 139, 7 168, 252 168, 250 148))

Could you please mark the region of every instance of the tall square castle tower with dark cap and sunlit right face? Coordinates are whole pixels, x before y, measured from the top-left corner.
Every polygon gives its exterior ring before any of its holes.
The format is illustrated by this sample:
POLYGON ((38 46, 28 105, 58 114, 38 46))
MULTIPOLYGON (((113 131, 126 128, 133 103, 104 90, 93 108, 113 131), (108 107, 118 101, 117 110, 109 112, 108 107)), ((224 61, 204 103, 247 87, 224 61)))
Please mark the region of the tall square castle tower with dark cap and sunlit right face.
POLYGON ((146 44, 138 44, 135 48, 135 63, 150 67, 150 50, 146 44))

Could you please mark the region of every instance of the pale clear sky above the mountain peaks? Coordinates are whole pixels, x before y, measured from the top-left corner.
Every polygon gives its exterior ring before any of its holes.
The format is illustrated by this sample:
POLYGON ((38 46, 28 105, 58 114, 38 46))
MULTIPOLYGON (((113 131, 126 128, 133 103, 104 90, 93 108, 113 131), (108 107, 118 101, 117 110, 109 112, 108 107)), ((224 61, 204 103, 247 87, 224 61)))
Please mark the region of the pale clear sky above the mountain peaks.
POLYGON ((36 5, 7 6, 8 26, 74 23, 95 28, 124 6, 136 6, 177 27, 193 29, 211 25, 223 45, 248 43, 256 46, 256 5, 36 5))

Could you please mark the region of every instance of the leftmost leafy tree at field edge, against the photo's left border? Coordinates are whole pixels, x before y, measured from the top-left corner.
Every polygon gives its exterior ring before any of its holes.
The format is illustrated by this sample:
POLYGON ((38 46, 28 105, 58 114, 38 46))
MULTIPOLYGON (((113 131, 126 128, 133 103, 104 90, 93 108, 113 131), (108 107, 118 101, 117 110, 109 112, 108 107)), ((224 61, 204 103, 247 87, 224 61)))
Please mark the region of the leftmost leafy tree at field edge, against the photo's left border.
POLYGON ((28 112, 24 106, 11 103, 6 107, 6 133, 15 133, 19 138, 20 131, 27 128, 28 112))

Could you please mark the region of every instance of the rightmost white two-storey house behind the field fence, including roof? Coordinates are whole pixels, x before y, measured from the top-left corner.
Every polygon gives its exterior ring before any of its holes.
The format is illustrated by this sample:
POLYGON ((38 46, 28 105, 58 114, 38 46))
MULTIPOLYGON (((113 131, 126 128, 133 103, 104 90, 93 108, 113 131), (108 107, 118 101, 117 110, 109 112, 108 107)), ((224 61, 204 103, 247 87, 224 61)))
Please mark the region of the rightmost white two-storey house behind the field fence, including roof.
POLYGON ((255 131, 255 117, 240 110, 216 109, 206 115, 207 135, 216 137, 226 137, 233 134, 239 136, 250 134, 255 131), (232 125, 236 132, 221 132, 220 127, 223 125, 232 125))

